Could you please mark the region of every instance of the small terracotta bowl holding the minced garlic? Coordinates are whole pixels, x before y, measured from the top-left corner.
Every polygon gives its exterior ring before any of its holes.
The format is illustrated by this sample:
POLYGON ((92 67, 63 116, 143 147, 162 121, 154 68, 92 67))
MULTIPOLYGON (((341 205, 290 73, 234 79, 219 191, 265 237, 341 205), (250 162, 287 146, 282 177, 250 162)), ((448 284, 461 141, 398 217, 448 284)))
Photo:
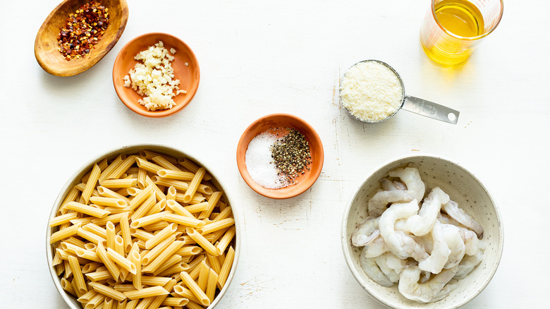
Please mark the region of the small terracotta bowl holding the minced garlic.
POLYGON ((116 94, 121 101, 132 111, 152 118, 170 116, 184 109, 195 97, 195 93, 197 93, 199 87, 199 80, 199 62, 190 47, 177 37, 160 32, 140 35, 126 43, 121 51, 118 52, 113 66, 113 84, 116 94), (142 96, 138 95, 138 92, 135 92, 132 87, 124 87, 123 78, 125 75, 128 75, 130 68, 134 68, 135 64, 140 62, 134 59, 135 55, 144 51, 149 46, 157 44, 159 41, 162 41, 164 47, 168 50, 171 48, 176 49, 176 54, 172 55, 174 59, 171 62, 174 71, 173 79, 180 80, 180 89, 186 90, 187 93, 181 93, 173 97, 176 105, 171 109, 148 111, 145 106, 138 103, 138 99, 142 99, 142 96), (188 65, 186 66, 185 63, 188 63, 188 65))

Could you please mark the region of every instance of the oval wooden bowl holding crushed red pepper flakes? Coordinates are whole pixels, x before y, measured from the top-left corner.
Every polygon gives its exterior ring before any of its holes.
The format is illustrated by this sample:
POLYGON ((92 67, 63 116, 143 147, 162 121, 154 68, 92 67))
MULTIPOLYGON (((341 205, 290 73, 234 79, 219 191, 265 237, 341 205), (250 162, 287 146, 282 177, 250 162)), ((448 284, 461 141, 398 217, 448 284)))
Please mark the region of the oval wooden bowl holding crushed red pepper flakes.
POLYGON ((103 37, 85 57, 67 61, 57 49, 57 35, 66 23, 69 13, 74 13, 90 0, 65 0, 44 20, 35 40, 35 57, 44 71, 56 76, 73 76, 86 71, 101 60, 115 46, 128 21, 126 0, 101 0, 109 8, 109 27, 103 37))

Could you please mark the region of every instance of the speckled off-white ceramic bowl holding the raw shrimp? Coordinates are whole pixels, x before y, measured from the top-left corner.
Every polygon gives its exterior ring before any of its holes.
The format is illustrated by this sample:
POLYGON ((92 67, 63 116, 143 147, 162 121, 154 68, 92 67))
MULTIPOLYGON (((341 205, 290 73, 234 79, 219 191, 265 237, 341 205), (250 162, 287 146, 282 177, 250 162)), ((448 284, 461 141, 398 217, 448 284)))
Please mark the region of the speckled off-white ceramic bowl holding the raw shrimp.
MULTIPOLYGON (((341 234, 342 248, 348 267, 361 286, 377 301, 391 308, 458 308, 477 296, 496 272, 503 249, 503 229, 499 210, 494 201, 477 178, 456 162, 441 157, 419 154, 400 157, 376 169, 367 180, 361 184, 350 198, 344 212, 341 234), (362 270, 359 255, 361 248, 351 245, 351 233, 355 225, 367 217, 367 201, 380 188, 379 179, 388 172, 408 163, 418 166, 422 181, 427 188, 439 186, 458 202, 461 208, 483 226, 483 240, 487 244, 484 258, 468 277, 458 280, 458 287, 446 298, 435 303, 417 303, 410 301, 399 293, 397 285, 391 288, 380 286, 372 281, 362 270)), ((455 280, 453 280, 455 281, 455 280)))

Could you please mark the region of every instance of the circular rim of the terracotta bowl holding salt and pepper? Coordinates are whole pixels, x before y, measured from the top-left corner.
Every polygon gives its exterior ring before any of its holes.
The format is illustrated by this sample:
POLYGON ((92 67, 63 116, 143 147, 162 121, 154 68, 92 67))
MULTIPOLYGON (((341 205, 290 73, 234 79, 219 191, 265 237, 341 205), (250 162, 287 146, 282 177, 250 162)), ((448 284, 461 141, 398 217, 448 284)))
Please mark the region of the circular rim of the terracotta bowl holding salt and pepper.
MULTIPOLYGON (((310 140, 310 142, 311 142, 311 140, 310 140)), ((323 165, 324 165, 324 148, 323 148, 323 143, 321 141, 321 137, 319 136, 319 133, 317 133, 317 131, 315 131, 315 129, 313 128, 313 126, 310 125, 310 123, 307 123, 307 121, 305 121, 304 119, 301 119, 298 116, 294 116, 293 114, 275 113, 275 114, 268 114, 268 115, 262 116, 259 119, 256 119, 255 121, 250 123, 250 125, 247 126, 247 128, 245 128, 243 133, 240 135, 240 138, 239 138, 239 141, 238 141, 238 144, 237 144, 236 159, 237 159, 237 168, 238 168, 238 171, 239 171, 239 174, 240 174, 241 178, 243 178, 245 183, 252 190, 254 190, 259 195, 263 195, 266 198, 273 198, 273 199, 276 199, 276 200, 283 200, 283 199, 287 199, 287 198, 294 198, 295 196, 298 196, 298 195, 304 193, 306 190, 311 188, 314 183, 317 182, 317 179, 321 175, 321 171, 322 171, 323 165), (263 121, 266 121, 267 119, 273 118, 273 117, 276 117, 276 116, 282 116, 282 117, 291 119, 291 121, 298 121, 299 123, 304 125, 307 128, 307 130, 309 130, 312 133, 312 137, 313 137, 314 141, 316 143, 319 143, 319 146, 320 146, 320 149, 321 149, 321 151, 317 154, 318 159, 319 159, 319 170, 316 171, 314 174, 312 174, 312 178, 311 178, 312 182, 309 185, 304 186, 304 188, 302 188, 301 190, 297 190, 295 193, 290 193, 290 194, 287 194, 287 195, 276 195, 275 192, 278 189, 268 189, 268 188, 264 188, 262 186, 259 186, 257 183, 255 183, 252 180, 252 178, 250 177, 250 174, 249 174, 249 177, 246 177, 245 174, 244 174, 245 171, 247 173, 247 168, 246 168, 245 161, 244 160, 240 161, 239 160, 240 157, 238 155, 238 153, 239 153, 238 151, 240 149, 242 149, 242 148, 245 149, 245 153, 246 153, 246 149, 248 147, 248 145, 245 145, 245 133, 251 131, 252 127, 257 125, 258 123, 262 123, 263 121)))

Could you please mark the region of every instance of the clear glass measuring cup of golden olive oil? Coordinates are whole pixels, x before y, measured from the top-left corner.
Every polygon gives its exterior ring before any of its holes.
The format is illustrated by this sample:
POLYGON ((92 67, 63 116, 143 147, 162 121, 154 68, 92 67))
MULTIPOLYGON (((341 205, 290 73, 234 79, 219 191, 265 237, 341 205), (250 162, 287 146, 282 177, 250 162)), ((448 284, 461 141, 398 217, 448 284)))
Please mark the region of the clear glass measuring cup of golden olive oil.
POLYGON ((502 0, 432 0, 420 28, 422 48, 437 63, 461 63, 499 25, 502 12, 502 0))

